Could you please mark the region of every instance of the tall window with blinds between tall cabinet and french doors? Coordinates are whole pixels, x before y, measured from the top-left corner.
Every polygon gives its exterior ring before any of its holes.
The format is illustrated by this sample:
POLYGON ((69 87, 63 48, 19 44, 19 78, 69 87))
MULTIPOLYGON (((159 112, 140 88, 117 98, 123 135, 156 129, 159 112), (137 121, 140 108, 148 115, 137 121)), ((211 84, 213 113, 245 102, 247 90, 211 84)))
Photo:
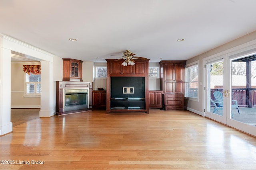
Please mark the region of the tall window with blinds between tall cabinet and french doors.
POLYGON ((185 97, 198 99, 198 62, 185 68, 185 97))

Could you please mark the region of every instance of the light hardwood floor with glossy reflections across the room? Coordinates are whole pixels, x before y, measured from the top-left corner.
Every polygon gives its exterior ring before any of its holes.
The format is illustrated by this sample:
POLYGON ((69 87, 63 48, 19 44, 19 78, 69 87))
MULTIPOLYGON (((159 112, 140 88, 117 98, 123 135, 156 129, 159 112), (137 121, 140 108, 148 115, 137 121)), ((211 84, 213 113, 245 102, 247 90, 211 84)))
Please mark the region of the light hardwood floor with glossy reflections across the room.
POLYGON ((0 137, 0 153, 15 162, 1 170, 256 169, 255 137, 190 111, 160 109, 30 119, 0 137))

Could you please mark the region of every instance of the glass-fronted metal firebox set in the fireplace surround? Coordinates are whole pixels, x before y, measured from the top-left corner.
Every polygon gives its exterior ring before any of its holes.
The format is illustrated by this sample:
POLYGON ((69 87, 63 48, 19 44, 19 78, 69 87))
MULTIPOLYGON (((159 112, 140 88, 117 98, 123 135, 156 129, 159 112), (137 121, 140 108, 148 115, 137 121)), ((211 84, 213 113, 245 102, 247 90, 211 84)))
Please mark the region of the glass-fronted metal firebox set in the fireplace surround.
POLYGON ((89 89, 63 89, 63 111, 89 108, 89 89))

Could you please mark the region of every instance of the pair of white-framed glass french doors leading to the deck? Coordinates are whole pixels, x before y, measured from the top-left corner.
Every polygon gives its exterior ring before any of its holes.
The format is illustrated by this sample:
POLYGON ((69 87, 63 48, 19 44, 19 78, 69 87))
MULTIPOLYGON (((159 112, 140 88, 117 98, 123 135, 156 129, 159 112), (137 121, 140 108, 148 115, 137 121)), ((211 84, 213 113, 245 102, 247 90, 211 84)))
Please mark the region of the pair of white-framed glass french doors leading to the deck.
POLYGON ((256 48, 252 51, 204 61, 204 116, 256 136, 256 48))

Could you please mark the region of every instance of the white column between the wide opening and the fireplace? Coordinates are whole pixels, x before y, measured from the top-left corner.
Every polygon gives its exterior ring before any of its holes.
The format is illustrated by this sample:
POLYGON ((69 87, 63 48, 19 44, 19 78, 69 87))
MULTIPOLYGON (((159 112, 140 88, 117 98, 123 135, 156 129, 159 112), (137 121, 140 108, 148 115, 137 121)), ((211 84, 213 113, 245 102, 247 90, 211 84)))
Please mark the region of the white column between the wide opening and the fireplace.
POLYGON ((54 94, 53 94, 53 64, 48 61, 41 61, 41 109, 40 117, 54 115, 54 94))

